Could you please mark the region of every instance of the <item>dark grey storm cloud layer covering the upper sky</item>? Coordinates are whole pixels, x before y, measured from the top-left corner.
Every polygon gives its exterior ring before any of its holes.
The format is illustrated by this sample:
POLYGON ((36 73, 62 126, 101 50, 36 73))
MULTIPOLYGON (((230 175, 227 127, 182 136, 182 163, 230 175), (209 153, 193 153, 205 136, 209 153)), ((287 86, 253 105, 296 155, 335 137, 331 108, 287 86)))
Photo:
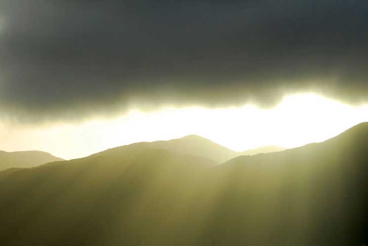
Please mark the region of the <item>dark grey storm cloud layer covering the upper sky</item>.
POLYGON ((20 121, 131 107, 368 101, 365 0, 0 0, 0 110, 20 121))

